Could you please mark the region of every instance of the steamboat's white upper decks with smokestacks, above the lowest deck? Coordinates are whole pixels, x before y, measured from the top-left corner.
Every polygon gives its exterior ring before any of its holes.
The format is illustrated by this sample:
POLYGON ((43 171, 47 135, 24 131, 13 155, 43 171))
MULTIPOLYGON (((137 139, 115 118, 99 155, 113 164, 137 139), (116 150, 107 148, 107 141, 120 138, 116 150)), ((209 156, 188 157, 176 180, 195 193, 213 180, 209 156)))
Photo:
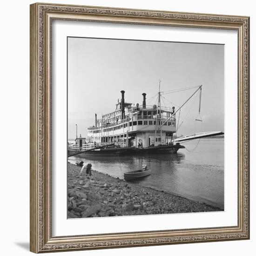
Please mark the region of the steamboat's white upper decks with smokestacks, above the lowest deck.
MULTIPOLYGON (((143 93, 142 105, 124 101, 124 91, 121 91, 121 101, 117 102, 115 111, 95 117, 95 126, 88 128, 88 137, 100 140, 105 136, 117 136, 131 132, 176 132, 175 108, 160 108, 156 105, 146 106, 146 94, 143 93)), ((160 105, 160 102, 158 103, 160 105)))

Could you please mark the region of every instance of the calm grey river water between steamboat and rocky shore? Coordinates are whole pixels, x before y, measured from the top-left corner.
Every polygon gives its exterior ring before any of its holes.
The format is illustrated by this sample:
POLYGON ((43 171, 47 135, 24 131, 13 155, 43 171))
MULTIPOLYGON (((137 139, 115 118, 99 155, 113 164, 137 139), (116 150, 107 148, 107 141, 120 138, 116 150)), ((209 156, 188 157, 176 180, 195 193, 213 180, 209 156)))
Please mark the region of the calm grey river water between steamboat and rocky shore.
POLYGON ((124 172, 147 164, 152 174, 135 183, 224 209, 224 139, 181 144, 186 149, 179 149, 177 154, 120 157, 83 154, 69 157, 68 161, 90 162, 94 170, 121 179, 124 172))

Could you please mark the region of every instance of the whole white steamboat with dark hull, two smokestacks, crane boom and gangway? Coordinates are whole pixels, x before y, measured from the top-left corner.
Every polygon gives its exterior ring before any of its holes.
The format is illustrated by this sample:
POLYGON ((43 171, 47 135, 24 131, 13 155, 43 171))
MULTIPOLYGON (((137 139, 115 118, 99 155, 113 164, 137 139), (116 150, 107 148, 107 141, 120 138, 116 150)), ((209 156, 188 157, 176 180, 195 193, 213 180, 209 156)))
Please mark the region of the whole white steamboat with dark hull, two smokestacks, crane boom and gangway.
MULTIPOLYGON (((201 108, 202 85, 195 92, 200 93, 199 116, 201 108)), ((162 92, 157 95, 157 104, 147 106, 146 93, 142 93, 142 105, 133 105, 125 101, 125 91, 121 91, 121 101, 115 104, 115 110, 104 114, 95 124, 88 128, 87 140, 76 137, 76 143, 68 145, 68 156, 85 153, 87 155, 126 155, 126 154, 175 154, 185 148, 181 141, 207 136, 221 135, 219 132, 199 133, 174 139, 177 130, 176 114, 186 104, 175 107, 161 106, 162 92)), ((196 121, 202 121, 196 119, 196 121)))

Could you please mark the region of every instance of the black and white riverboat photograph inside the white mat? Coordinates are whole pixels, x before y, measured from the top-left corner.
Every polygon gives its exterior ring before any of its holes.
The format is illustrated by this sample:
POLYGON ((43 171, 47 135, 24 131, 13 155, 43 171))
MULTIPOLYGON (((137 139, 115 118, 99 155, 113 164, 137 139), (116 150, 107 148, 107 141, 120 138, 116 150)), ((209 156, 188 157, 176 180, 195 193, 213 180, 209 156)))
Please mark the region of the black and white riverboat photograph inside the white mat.
POLYGON ((67 38, 67 218, 224 211, 224 45, 67 38))

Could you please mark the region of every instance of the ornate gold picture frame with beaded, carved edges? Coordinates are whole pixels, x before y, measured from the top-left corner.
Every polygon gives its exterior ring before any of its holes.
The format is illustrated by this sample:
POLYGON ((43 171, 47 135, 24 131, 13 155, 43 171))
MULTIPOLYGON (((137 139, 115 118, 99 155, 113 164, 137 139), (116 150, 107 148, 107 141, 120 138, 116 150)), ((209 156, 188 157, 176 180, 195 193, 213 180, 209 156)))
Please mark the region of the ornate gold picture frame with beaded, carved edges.
POLYGON ((55 252, 249 239, 249 17, 35 3, 30 6, 30 250, 55 252), (51 22, 54 19, 238 32, 238 225, 95 236, 51 232, 51 22))

